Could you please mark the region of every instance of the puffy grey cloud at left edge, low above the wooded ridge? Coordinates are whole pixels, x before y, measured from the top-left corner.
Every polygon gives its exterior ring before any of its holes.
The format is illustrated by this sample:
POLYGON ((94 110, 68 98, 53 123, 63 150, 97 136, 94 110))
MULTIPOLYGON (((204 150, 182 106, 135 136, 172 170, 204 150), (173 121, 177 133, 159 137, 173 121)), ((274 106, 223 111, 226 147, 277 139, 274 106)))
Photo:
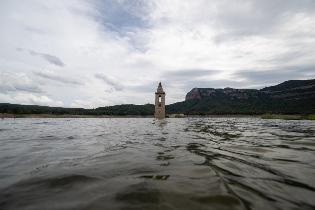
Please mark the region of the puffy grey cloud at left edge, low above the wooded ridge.
POLYGON ((0 92, 26 91, 31 93, 43 93, 41 87, 31 80, 25 73, 14 73, 0 70, 0 92))

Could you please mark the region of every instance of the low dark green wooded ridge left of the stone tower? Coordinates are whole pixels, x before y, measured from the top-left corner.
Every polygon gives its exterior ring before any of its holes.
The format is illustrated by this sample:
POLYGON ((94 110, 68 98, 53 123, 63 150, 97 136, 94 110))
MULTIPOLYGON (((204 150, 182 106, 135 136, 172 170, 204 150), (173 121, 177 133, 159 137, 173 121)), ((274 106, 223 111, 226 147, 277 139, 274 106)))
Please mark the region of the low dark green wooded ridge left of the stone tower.
POLYGON ((61 108, 0 103, 0 113, 8 114, 73 114, 73 115, 153 115, 155 105, 115 105, 94 109, 61 108))

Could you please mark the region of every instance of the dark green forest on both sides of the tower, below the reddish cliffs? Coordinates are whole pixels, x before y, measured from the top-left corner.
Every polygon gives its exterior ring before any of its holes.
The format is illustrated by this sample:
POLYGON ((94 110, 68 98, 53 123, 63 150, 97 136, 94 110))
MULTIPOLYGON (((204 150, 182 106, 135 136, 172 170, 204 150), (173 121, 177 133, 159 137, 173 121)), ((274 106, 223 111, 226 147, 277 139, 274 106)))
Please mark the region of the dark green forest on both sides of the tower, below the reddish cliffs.
MULTIPOLYGON (((225 94, 216 98, 202 97, 166 105, 166 114, 213 115, 213 114, 314 114, 315 99, 312 96, 299 100, 272 99, 259 94, 257 98, 231 100, 225 94)), ((155 105, 115 105, 95 109, 61 108, 36 105, 0 103, 0 113, 8 114, 72 114, 72 115, 153 115, 155 105)))

